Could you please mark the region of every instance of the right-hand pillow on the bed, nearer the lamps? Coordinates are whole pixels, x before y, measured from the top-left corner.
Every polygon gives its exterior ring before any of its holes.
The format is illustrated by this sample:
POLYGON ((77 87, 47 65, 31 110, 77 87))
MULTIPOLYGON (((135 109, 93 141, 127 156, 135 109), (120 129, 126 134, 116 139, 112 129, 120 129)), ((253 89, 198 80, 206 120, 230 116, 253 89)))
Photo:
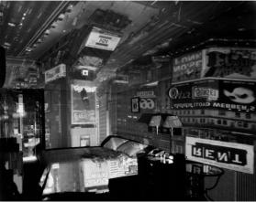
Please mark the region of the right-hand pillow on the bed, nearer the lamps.
POLYGON ((136 154, 138 154, 146 147, 147 145, 145 144, 139 144, 133 141, 128 141, 127 143, 120 145, 117 148, 117 151, 128 154, 128 156, 134 157, 136 156, 136 154))

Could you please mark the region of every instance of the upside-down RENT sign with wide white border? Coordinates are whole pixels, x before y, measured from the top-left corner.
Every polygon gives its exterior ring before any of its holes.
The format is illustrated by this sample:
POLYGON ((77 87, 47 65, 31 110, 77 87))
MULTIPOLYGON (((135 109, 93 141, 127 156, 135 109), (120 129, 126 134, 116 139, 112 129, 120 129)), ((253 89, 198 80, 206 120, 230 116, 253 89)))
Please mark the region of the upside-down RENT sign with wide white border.
POLYGON ((186 137, 185 154, 195 162, 243 173, 254 172, 253 145, 186 137))

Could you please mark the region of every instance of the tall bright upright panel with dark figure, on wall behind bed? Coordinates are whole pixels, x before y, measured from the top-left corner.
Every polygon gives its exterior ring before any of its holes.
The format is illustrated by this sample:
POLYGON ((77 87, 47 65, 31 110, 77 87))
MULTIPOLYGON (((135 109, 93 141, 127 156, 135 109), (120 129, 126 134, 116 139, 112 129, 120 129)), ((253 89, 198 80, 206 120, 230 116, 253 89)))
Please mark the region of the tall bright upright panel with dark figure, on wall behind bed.
POLYGON ((72 85, 72 124, 95 124, 95 87, 72 85))

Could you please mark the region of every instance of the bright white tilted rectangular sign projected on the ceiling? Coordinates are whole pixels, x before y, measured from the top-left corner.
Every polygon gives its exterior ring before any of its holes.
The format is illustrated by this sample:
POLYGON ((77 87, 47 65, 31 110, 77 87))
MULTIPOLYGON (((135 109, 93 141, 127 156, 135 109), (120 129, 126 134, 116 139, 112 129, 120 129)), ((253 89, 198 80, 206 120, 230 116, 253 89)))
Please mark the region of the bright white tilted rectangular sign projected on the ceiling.
POLYGON ((85 47, 113 51, 115 48, 117 48, 117 44, 119 43, 120 39, 121 37, 119 37, 117 34, 94 27, 85 42, 85 47))

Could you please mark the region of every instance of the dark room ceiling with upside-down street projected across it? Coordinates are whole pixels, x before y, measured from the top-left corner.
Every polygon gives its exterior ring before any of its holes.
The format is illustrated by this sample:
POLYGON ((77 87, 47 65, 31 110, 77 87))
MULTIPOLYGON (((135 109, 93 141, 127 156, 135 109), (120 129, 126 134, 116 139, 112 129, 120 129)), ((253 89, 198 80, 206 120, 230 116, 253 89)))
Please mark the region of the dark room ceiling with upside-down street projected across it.
POLYGON ((96 9, 130 20, 119 30, 122 39, 99 70, 99 81, 143 56, 172 56, 209 38, 256 39, 256 2, 250 1, 1 1, 0 5, 0 43, 9 61, 6 86, 22 72, 26 76, 28 68, 37 69, 34 61, 62 36, 92 24, 96 9), (22 65, 17 68, 18 62, 22 65))

